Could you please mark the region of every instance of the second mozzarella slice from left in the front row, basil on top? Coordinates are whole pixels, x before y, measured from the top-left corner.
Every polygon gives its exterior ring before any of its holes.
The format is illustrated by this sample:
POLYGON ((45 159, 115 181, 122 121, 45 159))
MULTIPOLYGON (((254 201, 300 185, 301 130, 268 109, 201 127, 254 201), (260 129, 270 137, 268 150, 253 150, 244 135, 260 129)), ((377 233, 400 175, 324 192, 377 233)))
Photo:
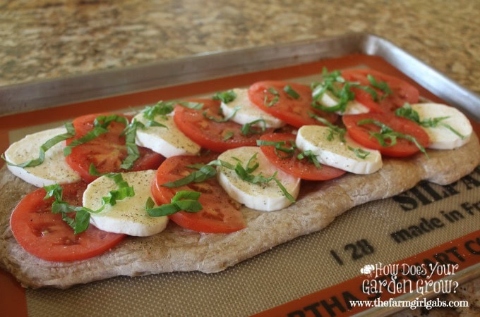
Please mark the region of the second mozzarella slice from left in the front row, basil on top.
MULTIPOLYGON (((287 189, 287 192, 296 199, 300 190, 300 178, 277 170, 277 168, 272 166, 268 161, 260 148, 239 147, 237 149, 231 149, 221 154, 218 159, 227 161, 234 166, 238 162, 236 159, 239 159, 242 166, 245 167, 248 160, 255 154, 256 160, 251 162, 251 166, 256 162, 259 166, 253 171, 253 174, 258 175, 261 173, 265 177, 270 177, 277 172, 277 179, 280 180, 285 189, 287 189)), ((292 202, 284 196, 282 190, 280 190, 274 180, 263 184, 252 184, 241 180, 234 170, 224 167, 219 167, 217 178, 220 185, 232 199, 239 201, 251 209, 276 211, 292 204, 292 202)))

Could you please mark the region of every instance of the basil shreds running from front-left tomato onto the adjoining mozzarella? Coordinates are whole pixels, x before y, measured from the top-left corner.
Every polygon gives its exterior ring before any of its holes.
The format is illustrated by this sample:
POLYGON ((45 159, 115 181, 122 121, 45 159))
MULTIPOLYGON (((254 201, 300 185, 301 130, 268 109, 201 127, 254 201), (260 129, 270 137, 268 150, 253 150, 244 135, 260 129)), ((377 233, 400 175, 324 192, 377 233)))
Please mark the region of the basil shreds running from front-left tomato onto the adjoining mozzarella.
MULTIPOLYGON (((92 168, 92 166, 90 166, 90 170, 93 170, 94 173, 96 171, 95 167, 92 168)), ((107 197, 102 197, 102 206, 95 211, 82 206, 72 206, 71 204, 68 204, 68 202, 62 199, 63 189, 58 184, 44 187, 45 191, 47 191, 47 195, 44 199, 49 199, 51 197, 54 197, 55 199, 52 203, 52 213, 61 213, 62 220, 73 229, 73 232, 76 235, 87 230, 88 225, 90 224, 90 213, 100 213, 107 204, 114 206, 117 200, 122 200, 126 197, 133 197, 135 195, 133 187, 128 185, 128 183, 121 177, 121 174, 109 173, 104 175, 112 178, 119 189, 111 190, 107 197), (70 218, 67 215, 67 213, 71 212, 76 212, 75 218, 70 218)))

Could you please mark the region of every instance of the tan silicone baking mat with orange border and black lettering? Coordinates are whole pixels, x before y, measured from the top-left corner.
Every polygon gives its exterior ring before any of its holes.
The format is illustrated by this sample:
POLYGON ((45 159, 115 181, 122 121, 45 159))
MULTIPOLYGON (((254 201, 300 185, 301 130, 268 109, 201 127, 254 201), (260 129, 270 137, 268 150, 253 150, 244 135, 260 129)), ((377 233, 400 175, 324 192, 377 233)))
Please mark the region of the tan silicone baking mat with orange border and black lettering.
MULTIPOLYGON (((357 54, 4 116, 0 132, 8 139, 2 139, 0 146, 4 151, 8 142, 27 132, 59 125, 83 113, 129 110, 158 100, 211 95, 257 80, 311 82, 324 66, 374 68, 414 83, 382 58, 357 54)), ((439 101, 426 89, 420 90, 423 97, 439 101)), ((372 265, 451 264, 455 274, 450 278, 454 279, 465 269, 474 268, 480 257, 479 197, 478 169, 449 186, 421 182, 397 197, 357 206, 325 230, 282 244, 221 273, 119 277, 69 290, 26 290, 26 311, 30 316, 247 316, 262 311, 265 316, 339 316, 359 312, 361 309, 351 310, 348 300, 377 297, 378 292, 362 292, 361 287, 366 280, 372 285, 372 279, 385 278, 361 273, 372 265)), ((407 275, 402 276, 407 279, 407 275)), ((411 280, 422 280, 414 275, 411 280)), ((443 277, 440 272, 423 280, 443 277)), ((15 286, 8 287, 15 290, 15 286)), ((402 292, 384 291, 380 295, 388 299, 402 292)), ((5 305, 17 305, 14 310, 19 311, 21 300, 5 305)))

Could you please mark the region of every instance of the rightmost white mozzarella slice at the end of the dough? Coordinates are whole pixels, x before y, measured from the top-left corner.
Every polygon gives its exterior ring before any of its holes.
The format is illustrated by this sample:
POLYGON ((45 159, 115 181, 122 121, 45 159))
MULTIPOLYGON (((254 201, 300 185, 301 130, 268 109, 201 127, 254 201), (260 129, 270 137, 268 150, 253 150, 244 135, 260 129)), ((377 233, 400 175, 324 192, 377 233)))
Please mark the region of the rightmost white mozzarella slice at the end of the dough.
POLYGON ((441 120, 440 125, 437 125, 435 128, 425 128, 430 138, 428 148, 455 149, 469 142, 473 132, 472 125, 467 117, 458 111, 457 108, 434 103, 412 104, 411 106, 414 111, 419 113, 421 121, 430 118, 448 117, 441 120), (452 132, 452 130, 442 124, 450 125, 450 127, 459 132, 463 137, 455 134, 455 132, 452 132))

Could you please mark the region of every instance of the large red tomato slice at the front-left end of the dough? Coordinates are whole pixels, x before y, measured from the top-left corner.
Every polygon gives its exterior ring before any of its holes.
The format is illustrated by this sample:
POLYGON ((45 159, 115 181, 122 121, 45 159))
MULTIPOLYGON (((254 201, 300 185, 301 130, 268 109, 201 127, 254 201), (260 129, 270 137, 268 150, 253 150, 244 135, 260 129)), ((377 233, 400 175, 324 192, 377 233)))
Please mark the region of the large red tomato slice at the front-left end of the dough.
MULTIPOLYGON (((86 187, 85 182, 62 185, 64 200, 81 206, 86 187)), ((30 254, 47 261, 77 261, 102 254, 123 239, 124 235, 104 232, 93 225, 74 235, 61 214, 51 212, 53 199, 44 200, 46 194, 40 188, 25 196, 10 219, 13 236, 30 254)))

